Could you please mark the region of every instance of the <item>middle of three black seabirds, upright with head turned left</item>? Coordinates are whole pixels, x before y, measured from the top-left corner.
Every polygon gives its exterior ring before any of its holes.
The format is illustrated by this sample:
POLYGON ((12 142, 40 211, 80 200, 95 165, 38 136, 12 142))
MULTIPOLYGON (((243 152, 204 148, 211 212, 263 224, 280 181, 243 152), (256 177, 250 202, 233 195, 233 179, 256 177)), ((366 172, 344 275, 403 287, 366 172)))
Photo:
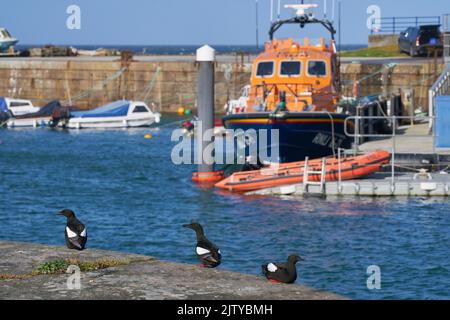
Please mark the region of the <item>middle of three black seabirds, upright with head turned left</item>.
POLYGON ((205 237, 203 227, 199 223, 185 224, 183 227, 192 229, 197 235, 195 253, 205 268, 216 268, 221 264, 222 253, 220 249, 205 237))

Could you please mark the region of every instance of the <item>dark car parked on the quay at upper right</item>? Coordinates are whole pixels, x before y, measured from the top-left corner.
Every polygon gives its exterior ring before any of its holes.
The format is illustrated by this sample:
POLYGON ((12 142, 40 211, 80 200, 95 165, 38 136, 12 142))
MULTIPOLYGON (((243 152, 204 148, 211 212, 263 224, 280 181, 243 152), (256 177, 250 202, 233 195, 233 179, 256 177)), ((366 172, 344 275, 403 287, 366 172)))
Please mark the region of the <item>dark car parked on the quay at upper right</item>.
POLYGON ((426 55, 428 50, 442 49, 442 34, 440 25, 410 27, 400 33, 398 46, 400 52, 406 52, 411 57, 426 55))

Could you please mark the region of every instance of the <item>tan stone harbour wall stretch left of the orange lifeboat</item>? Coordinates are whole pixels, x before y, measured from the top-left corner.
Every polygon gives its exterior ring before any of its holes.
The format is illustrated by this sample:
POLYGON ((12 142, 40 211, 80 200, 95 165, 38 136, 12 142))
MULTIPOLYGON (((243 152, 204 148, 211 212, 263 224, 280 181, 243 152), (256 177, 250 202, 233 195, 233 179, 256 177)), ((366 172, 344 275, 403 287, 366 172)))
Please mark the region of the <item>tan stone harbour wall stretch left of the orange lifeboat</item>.
MULTIPOLYGON (((217 64, 218 110, 223 109, 228 93, 239 94, 249 80, 250 68, 248 64, 217 64)), ((156 102, 162 111, 173 112, 180 106, 195 108, 196 82, 194 62, 0 60, 0 96, 30 99, 38 106, 53 99, 68 102, 70 98, 74 99, 73 105, 82 109, 122 98, 142 100, 151 86, 146 102, 156 102), (121 73, 123 68, 126 69, 121 73)))

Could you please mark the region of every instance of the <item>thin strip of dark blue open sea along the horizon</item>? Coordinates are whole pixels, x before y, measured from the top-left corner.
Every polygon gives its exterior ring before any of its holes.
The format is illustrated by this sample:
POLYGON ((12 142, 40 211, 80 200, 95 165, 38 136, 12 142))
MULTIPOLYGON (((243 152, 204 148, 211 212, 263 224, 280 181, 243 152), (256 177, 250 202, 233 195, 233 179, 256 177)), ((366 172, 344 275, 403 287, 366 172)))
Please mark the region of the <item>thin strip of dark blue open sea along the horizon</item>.
MULTIPOLYGON (((70 47, 70 45, 64 45, 70 47)), ((136 54, 154 54, 154 55, 191 55, 195 54, 196 50, 200 48, 202 44, 198 45, 72 45, 72 47, 81 50, 96 50, 99 48, 104 49, 117 49, 119 51, 132 51, 136 54)), ((31 48, 42 47, 42 45, 32 44, 19 44, 16 49, 19 51, 28 50, 31 48)), ((250 53, 257 54, 263 51, 263 47, 256 47, 256 45, 213 45, 219 54, 229 53, 250 53)), ((366 48, 364 44, 346 44, 342 45, 343 51, 356 50, 366 48)))

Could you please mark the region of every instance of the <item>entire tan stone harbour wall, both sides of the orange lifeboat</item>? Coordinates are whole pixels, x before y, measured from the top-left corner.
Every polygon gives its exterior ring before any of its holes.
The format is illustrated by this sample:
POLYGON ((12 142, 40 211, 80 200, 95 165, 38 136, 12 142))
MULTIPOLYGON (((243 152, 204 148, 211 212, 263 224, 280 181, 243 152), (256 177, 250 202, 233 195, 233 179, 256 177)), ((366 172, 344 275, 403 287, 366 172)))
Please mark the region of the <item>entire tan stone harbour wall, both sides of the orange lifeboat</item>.
MULTIPOLYGON (((361 81, 362 95, 397 94, 400 89, 412 89, 415 106, 426 109, 428 88, 443 69, 441 63, 399 64, 392 68, 381 64, 343 64, 343 94, 351 96, 353 83, 357 80, 361 81)), ((228 97, 239 96, 250 80, 250 72, 251 63, 247 61, 216 64, 217 111, 223 111, 228 97)), ((38 106, 53 99, 68 103, 70 98, 74 99, 73 105, 82 109, 122 98, 142 100, 150 83, 146 102, 157 103, 160 111, 175 112, 180 106, 195 109, 197 66, 193 59, 132 62, 95 58, 0 60, 0 96, 30 99, 38 106)))

